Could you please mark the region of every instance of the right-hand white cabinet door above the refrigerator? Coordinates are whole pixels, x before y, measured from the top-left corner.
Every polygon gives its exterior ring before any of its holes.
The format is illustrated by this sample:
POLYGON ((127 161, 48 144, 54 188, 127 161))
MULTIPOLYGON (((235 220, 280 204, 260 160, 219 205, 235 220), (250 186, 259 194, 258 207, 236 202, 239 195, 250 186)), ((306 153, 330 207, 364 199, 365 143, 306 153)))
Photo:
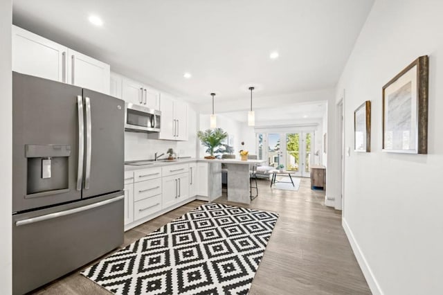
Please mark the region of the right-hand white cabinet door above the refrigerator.
POLYGON ((101 93, 109 94, 109 64, 68 49, 68 82, 101 93))

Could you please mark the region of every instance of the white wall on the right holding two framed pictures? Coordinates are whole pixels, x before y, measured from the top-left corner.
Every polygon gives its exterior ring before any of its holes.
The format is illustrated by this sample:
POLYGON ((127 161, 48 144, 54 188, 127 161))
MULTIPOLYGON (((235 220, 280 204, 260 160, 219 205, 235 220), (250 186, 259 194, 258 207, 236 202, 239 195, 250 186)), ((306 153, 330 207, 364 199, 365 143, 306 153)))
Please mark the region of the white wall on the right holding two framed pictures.
POLYGON ((337 87, 351 148, 343 226, 374 294, 443 294, 442 12, 443 1, 375 1, 337 87), (381 88, 420 55, 429 55, 428 154, 381 152, 381 88), (365 100, 372 152, 356 153, 352 116, 365 100))

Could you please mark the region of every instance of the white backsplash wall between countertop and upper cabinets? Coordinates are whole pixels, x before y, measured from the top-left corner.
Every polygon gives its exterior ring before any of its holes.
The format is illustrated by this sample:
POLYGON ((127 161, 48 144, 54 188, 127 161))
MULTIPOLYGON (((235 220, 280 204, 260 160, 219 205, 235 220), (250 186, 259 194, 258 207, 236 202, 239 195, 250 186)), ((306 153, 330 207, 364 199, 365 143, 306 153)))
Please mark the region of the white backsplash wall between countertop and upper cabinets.
POLYGON ((197 114, 188 106, 188 141, 162 141, 148 139, 147 134, 141 132, 125 132, 125 161, 154 159, 156 152, 166 153, 169 148, 173 148, 179 157, 195 158, 197 154, 195 130, 197 130, 197 114))

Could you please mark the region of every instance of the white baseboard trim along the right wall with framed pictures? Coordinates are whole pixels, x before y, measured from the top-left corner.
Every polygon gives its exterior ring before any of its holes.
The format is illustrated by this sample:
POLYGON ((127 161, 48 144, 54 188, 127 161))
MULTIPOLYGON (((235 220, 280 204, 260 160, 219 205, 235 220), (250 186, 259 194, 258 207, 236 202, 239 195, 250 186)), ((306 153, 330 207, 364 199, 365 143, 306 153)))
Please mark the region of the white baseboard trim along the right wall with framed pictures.
POLYGON ((372 294, 374 295, 383 295, 383 292, 381 291, 381 287, 379 283, 377 282, 377 279, 375 278, 374 274, 372 273, 372 270, 370 266, 368 265, 368 262, 366 261, 366 258, 361 251, 359 247, 359 243, 354 238, 354 234, 352 233, 352 230, 350 229, 349 225, 347 224, 345 217, 342 218, 341 224, 343 226, 343 229, 345 230, 347 240, 349 240, 351 244, 352 251, 354 251, 355 258, 357 262, 359 262, 359 266, 361 268, 361 271, 363 271, 363 276, 365 276, 366 282, 368 283, 372 294))

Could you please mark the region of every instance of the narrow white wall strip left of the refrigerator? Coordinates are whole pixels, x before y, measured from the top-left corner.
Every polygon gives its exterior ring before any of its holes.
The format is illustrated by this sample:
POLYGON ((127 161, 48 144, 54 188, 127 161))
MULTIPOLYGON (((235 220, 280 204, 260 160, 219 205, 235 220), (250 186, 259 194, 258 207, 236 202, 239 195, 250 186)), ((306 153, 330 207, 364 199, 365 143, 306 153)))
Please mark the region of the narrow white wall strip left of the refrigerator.
POLYGON ((0 290, 12 293, 12 1, 0 1, 0 290))

